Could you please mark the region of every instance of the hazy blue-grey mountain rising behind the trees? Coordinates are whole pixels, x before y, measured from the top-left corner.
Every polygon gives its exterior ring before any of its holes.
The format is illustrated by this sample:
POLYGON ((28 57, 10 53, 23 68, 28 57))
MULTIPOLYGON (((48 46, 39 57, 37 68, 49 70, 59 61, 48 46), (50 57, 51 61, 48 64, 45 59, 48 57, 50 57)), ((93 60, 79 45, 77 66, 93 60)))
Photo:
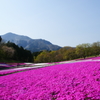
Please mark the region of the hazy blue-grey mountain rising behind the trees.
POLYGON ((28 36, 17 35, 14 33, 6 33, 1 35, 2 39, 7 42, 13 42, 18 46, 30 50, 32 52, 42 51, 42 50, 58 50, 61 47, 50 43, 49 41, 43 39, 31 39, 28 36))

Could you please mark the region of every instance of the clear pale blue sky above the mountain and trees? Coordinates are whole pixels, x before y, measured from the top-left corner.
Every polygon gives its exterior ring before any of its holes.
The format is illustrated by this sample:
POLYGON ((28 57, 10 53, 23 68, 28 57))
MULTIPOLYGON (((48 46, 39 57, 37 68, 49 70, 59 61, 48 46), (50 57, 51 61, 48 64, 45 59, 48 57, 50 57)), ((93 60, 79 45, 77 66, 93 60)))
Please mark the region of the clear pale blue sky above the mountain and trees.
POLYGON ((100 0, 0 0, 0 35, 75 47, 100 41, 100 0))

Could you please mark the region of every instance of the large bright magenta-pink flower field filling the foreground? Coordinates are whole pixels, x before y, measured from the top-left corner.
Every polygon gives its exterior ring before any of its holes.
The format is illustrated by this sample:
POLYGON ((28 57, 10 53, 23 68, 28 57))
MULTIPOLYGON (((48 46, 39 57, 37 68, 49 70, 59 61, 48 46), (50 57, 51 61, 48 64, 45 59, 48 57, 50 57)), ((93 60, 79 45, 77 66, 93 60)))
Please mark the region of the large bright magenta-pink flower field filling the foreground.
POLYGON ((100 100, 100 62, 60 64, 0 76, 0 100, 100 100))

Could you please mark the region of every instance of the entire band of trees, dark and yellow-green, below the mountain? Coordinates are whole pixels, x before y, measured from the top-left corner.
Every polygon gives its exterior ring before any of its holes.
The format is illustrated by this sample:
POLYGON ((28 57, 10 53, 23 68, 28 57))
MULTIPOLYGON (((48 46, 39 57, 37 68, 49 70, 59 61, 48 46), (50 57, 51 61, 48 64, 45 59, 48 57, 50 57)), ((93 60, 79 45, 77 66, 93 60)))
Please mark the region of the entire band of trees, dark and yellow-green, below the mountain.
POLYGON ((0 36, 0 60, 20 62, 59 62, 100 55, 100 42, 79 44, 75 48, 63 47, 56 51, 31 52, 12 42, 3 42, 0 36))

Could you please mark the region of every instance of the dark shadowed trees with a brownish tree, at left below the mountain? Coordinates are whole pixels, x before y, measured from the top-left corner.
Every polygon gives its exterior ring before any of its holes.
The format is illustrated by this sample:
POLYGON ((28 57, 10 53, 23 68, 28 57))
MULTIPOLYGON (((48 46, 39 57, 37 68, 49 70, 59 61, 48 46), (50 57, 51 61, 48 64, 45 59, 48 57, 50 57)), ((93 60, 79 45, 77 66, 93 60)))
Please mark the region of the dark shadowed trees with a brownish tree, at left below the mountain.
POLYGON ((15 43, 4 43, 0 36, 0 62, 33 62, 33 54, 15 43))

